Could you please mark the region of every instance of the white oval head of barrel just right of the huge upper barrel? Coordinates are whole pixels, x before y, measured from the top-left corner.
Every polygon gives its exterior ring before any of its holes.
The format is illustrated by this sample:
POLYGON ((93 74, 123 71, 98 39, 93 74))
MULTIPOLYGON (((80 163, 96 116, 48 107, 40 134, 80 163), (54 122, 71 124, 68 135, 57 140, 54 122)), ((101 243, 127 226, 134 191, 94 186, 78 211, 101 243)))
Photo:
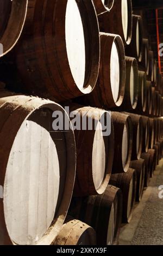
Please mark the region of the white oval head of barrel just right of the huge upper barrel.
POLYGON ((115 41, 112 44, 110 56, 110 82, 112 97, 116 103, 120 92, 120 57, 115 41))

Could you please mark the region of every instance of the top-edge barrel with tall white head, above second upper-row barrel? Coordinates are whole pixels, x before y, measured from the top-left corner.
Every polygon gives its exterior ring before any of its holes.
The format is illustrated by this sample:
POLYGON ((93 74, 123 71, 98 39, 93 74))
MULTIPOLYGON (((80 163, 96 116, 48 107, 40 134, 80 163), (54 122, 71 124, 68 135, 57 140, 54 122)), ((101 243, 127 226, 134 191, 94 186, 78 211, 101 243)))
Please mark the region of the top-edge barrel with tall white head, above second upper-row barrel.
POLYGON ((133 23, 131 0, 116 0, 110 12, 98 15, 98 21, 101 32, 118 34, 124 45, 130 44, 133 23))

